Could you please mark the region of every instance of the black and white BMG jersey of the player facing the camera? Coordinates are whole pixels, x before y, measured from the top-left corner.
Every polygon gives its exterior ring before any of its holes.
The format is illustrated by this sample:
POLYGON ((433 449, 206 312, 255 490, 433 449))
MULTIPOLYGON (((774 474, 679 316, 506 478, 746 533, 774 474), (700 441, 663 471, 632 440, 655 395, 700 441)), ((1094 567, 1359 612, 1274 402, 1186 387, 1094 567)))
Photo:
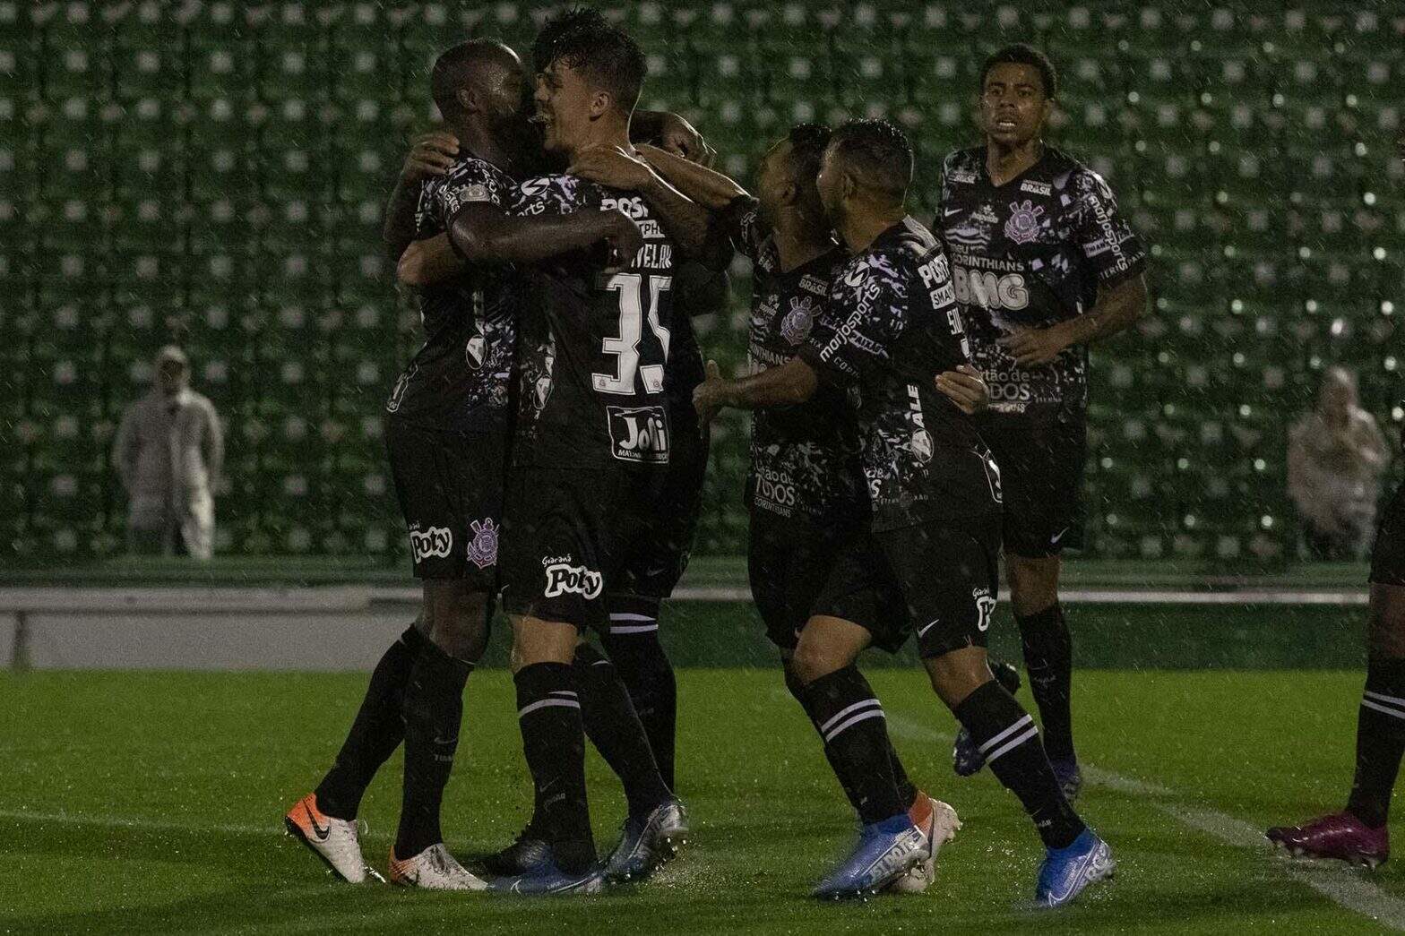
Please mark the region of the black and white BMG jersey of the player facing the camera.
POLYGON ((1023 174, 991 183, 984 146, 947 156, 933 230, 951 260, 951 284, 971 330, 971 353, 991 409, 1031 419, 1082 419, 1087 347, 1066 347, 1024 368, 998 339, 1047 327, 1093 308, 1099 284, 1142 271, 1146 253, 1117 212, 1103 177, 1048 148, 1023 174))

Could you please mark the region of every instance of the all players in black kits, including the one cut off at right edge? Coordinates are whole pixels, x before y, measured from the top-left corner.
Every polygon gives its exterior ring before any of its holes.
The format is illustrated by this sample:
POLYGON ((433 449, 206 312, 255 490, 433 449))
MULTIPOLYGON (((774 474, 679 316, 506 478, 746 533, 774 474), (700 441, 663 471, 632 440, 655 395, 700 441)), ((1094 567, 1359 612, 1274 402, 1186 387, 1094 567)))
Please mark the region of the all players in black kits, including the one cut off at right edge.
MULTIPOLYGON (((1106 181, 1041 139, 1054 66, 1026 45, 985 60, 984 143, 946 157, 927 226, 906 211, 913 152, 892 124, 788 129, 753 194, 708 169, 686 121, 635 110, 643 55, 599 14, 552 20, 531 59, 483 39, 438 58, 444 129, 414 143, 386 208, 427 336, 385 416, 423 606, 288 831, 347 881, 378 878, 357 811, 403 743, 392 883, 589 894, 674 857, 690 829, 659 610, 687 564, 708 424, 742 408, 752 594, 860 826, 813 894, 922 891, 961 826, 909 779, 857 668, 908 641, 960 722, 957 773, 989 765, 1033 822, 1035 902, 1111 877, 1073 807, 1058 579, 1080 535, 1087 344, 1142 313, 1145 250, 1106 181), (725 306, 735 253, 754 271, 749 367, 724 378, 691 318, 725 306), (986 656, 1002 554, 1038 725, 1014 668, 986 656), (534 808, 514 842, 459 863, 440 807, 499 600, 534 808), (587 738, 628 800, 604 854, 587 738)), ((1377 760, 1366 780, 1359 763, 1350 819, 1274 831, 1301 852, 1356 836, 1384 859, 1405 749, 1401 502, 1373 576, 1360 743, 1377 760)))

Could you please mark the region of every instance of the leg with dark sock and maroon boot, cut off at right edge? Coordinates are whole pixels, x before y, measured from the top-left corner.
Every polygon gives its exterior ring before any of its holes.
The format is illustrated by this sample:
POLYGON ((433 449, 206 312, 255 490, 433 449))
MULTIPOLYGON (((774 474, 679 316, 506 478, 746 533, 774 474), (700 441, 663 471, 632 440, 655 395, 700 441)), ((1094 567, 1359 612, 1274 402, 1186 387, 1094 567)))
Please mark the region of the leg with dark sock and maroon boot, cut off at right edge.
MULTIPOLYGON (((1397 148, 1405 160, 1405 134, 1397 148)), ((1375 867, 1391 854, 1385 819, 1405 753, 1405 482, 1381 514, 1370 583, 1366 690, 1356 715, 1356 777, 1346 810, 1302 825, 1274 826, 1267 835, 1293 854, 1375 867)))

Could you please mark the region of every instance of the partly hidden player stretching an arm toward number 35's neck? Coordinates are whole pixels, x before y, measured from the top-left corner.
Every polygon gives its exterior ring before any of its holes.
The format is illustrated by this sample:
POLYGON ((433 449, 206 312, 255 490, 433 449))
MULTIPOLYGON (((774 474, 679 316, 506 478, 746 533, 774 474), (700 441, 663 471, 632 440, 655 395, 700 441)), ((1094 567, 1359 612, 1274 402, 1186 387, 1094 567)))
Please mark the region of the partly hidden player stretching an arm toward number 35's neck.
MULTIPOLYGON (((795 357, 828 302, 830 282, 849 260, 835 242, 815 188, 829 135, 828 126, 804 124, 773 145, 757 171, 759 198, 721 173, 642 148, 683 194, 721 212, 717 229, 753 263, 752 372, 795 357)), ((860 448, 854 413, 835 388, 821 388, 805 402, 757 409, 752 420, 746 482, 752 599, 767 638, 780 651, 785 686, 802 706, 802 686, 791 665, 799 631, 844 531, 868 510, 860 448)), ((912 784, 895 750, 888 756, 901 801, 930 845, 930 854, 898 887, 922 890, 932 881, 936 850, 960 822, 951 807, 912 784)), ((863 818, 867 810, 858 791, 846 788, 846 794, 863 818)))

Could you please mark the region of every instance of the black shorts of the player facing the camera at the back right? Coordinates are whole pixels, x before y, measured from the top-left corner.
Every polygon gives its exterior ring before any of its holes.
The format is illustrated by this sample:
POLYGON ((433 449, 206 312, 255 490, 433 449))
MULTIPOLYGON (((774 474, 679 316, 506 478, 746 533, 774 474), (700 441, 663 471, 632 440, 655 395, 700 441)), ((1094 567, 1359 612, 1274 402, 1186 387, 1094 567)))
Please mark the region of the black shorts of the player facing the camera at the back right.
POLYGON ((1082 548, 1083 417, 1037 423, 996 413, 982 419, 979 429, 1000 467, 1005 551, 1038 559, 1082 548))

